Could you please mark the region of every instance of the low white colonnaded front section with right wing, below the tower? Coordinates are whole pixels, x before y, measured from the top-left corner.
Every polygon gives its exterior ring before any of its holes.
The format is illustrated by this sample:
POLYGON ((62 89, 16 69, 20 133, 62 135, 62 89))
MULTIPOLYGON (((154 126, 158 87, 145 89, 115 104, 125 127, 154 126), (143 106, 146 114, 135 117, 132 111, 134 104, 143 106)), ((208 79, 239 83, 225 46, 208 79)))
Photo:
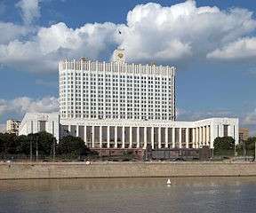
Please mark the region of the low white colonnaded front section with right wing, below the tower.
POLYGON ((84 139, 90 148, 213 148, 217 137, 238 143, 238 119, 211 118, 196 122, 129 120, 61 120, 64 134, 84 139))

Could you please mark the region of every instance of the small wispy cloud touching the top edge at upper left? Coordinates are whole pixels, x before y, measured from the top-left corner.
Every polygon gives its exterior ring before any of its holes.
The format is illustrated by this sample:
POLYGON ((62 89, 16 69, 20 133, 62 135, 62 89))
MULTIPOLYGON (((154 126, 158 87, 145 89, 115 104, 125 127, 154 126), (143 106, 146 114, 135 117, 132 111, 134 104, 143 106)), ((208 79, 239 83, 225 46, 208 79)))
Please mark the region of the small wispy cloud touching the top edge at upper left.
POLYGON ((30 25, 34 20, 40 18, 40 7, 38 0, 21 0, 15 4, 21 9, 21 17, 26 26, 30 25))

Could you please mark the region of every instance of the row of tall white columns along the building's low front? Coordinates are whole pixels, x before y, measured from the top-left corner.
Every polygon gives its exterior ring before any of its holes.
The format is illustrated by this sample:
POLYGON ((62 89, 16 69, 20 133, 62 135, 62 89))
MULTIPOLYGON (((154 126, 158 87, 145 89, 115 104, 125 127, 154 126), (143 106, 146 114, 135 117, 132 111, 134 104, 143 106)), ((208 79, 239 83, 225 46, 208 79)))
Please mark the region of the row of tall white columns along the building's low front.
POLYGON ((212 147, 211 126, 196 128, 160 126, 65 125, 64 130, 84 139, 90 148, 199 148, 212 147))

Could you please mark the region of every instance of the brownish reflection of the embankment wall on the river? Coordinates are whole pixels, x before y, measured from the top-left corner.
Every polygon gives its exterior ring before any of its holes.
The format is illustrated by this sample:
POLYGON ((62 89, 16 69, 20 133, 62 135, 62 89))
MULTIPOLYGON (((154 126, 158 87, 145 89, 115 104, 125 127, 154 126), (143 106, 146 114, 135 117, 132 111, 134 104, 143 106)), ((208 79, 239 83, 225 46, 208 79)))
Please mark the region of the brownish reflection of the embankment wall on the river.
MULTIPOLYGON (((167 178, 77 178, 77 179, 29 179, 0 180, 1 191, 47 191, 47 190, 98 190, 138 187, 159 187, 167 178)), ((255 177, 172 177, 173 187, 214 187, 220 185, 256 184, 255 177)))

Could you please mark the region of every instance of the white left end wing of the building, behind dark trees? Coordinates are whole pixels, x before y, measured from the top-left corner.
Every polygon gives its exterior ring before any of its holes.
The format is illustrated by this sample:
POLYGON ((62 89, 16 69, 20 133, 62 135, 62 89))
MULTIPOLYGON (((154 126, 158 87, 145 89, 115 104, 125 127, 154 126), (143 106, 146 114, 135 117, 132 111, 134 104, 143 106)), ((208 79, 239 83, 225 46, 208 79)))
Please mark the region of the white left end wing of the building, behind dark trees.
POLYGON ((60 119, 58 113, 27 113, 20 123, 19 135, 28 135, 46 131, 51 133, 54 138, 60 139, 60 119))

